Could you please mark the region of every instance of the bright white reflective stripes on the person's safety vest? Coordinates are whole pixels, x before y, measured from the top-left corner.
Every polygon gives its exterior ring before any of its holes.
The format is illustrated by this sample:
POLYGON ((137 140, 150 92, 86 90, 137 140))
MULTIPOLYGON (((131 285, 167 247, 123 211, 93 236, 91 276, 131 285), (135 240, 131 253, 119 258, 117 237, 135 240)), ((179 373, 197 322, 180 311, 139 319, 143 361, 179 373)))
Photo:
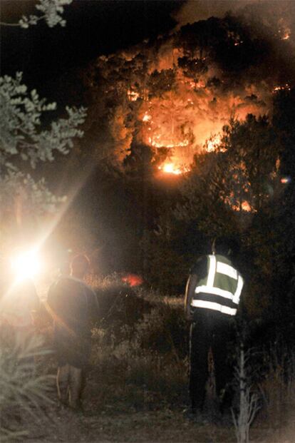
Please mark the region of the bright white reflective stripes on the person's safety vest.
MULTIPOLYGON (((207 281, 203 280, 202 285, 199 285, 195 288, 195 294, 203 293, 203 294, 218 295, 219 297, 227 298, 228 300, 231 300, 235 305, 238 305, 239 298, 241 296, 242 288, 244 285, 244 280, 242 275, 239 275, 237 270, 234 269, 231 265, 217 260, 215 255, 208 255, 208 258, 209 258, 209 268, 208 268, 207 281), (232 280, 237 280, 237 287, 235 287, 234 292, 233 289, 225 290, 222 289, 221 287, 214 286, 214 279, 217 273, 227 275, 227 277, 229 277, 232 280)), ((231 288, 229 287, 229 289, 231 288)), ((219 305, 219 303, 209 302, 205 300, 192 300, 191 305, 195 307, 206 307, 207 309, 212 309, 212 310, 221 310, 219 309, 219 307, 222 307, 221 312, 227 311, 225 313, 229 315, 235 315, 237 312, 237 309, 234 309, 232 307, 219 305)))

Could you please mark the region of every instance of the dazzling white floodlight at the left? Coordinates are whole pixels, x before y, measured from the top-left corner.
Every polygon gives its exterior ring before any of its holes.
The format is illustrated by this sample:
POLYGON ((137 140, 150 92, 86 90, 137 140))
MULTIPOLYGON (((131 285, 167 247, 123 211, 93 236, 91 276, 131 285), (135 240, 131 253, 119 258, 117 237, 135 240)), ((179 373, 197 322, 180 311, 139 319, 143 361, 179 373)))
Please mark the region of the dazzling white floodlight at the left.
POLYGON ((11 260, 17 280, 33 278, 40 270, 38 254, 34 250, 21 252, 11 260))

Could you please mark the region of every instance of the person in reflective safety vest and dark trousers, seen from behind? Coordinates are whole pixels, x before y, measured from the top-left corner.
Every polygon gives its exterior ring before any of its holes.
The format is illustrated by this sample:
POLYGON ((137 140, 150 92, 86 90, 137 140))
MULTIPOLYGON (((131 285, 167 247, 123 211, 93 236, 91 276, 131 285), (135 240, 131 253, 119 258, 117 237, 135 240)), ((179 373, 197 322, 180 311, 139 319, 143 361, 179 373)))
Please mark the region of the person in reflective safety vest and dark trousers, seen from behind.
POLYGON ((191 321, 190 412, 201 419, 209 375, 210 348, 220 412, 223 413, 231 402, 231 394, 226 389, 232 380, 227 348, 244 285, 242 275, 232 263, 234 246, 229 238, 214 240, 212 254, 197 260, 185 290, 185 315, 191 321))

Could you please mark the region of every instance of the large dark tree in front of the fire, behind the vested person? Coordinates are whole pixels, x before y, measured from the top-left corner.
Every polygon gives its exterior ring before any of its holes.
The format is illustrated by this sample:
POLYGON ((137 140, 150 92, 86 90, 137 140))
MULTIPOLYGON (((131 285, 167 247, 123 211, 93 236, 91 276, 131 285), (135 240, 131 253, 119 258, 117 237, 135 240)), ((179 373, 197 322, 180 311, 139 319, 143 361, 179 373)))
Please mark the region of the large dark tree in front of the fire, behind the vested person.
POLYGON ((180 266, 188 272, 197 255, 205 252, 206 239, 217 235, 237 238, 242 242, 247 303, 259 315, 271 306, 278 263, 273 207, 281 188, 279 143, 266 118, 250 115, 244 122, 232 120, 224 126, 222 142, 215 148, 195 156, 192 170, 182 179, 176 204, 161 211, 157 233, 150 235, 150 267, 155 263, 155 271, 160 268, 160 258, 164 258, 162 263, 171 258, 173 281, 180 281, 180 266), (186 250, 181 249, 182 244, 187 245, 186 250))

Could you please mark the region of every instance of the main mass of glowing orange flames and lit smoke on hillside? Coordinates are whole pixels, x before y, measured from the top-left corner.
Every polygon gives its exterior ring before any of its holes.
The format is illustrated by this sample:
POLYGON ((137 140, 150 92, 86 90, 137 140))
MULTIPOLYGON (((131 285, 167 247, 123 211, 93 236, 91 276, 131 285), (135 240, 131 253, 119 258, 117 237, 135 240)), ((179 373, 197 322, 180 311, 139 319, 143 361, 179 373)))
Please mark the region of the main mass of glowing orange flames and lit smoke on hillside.
MULTIPOLYGON (((237 39, 234 44, 242 45, 243 41, 237 39)), ((181 56, 181 50, 177 49, 177 57, 181 56)), ((162 54, 152 62, 152 69, 159 73, 172 69, 174 59, 175 52, 167 48, 165 56, 162 54)), ((169 150, 159 167, 162 172, 180 175, 190 170, 195 153, 204 148, 208 152, 215 151, 221 141, 222 127, 231 116, 243 120, 249 113, 258 117, 271 108, 271 92, 277 89, 271 91, 262 82, 239 86, 239 91, 234 91, 224 80, 224 86, 222 81, 218 83, 222 91, 218 93, 212 82, 212 78, 217 77, 222 78, 222 73, 215 66, 210 66, 197 81, 192 81, 182 68, 178 68, 173 91, 152 96, 149 101, 140 97, 138 119, 143 123, 140 140, 152 146, 155 154, 162 148, 169 150)))

